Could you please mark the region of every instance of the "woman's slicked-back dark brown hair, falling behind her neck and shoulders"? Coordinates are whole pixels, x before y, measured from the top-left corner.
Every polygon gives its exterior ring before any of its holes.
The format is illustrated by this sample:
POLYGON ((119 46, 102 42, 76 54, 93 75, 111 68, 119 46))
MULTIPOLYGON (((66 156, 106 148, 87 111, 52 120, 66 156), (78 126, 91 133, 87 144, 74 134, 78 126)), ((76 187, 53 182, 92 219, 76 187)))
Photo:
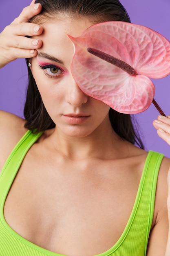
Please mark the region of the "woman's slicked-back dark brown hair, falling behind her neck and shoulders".
MULTIPOLYGON (((41 23, 42 18, 43 20, 54 19, 59 14, 71 18, 84 16, 94 23, 112 20, 130 22, 128 13, 119 0, 36 0, 35 3, 42 4, 42 11, 33 17, 31 22, 41 23)), ((26 59, 26 63, 28 66, 28 59, 26 59)), ((36 130, 36 132, 54 128, 55 123, 44 107, 29 67, 28 73, 29 85, 24 106, 25 127, 32 131, 36 130)), ((144 148, 139 132, 134 128, 135 121, 132 124, 132 116, 121 114, 110 108, 109 117, 113 130, 119 137, 144 148)))

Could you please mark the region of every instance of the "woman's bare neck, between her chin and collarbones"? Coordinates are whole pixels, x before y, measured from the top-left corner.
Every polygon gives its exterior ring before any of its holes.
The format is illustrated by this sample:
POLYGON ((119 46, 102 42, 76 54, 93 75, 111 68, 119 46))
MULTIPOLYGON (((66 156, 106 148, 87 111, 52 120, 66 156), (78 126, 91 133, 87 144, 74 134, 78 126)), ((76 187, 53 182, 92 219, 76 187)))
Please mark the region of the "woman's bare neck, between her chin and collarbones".
POLYGON ((69 137, 57 127, 49 136, 53 149, 69 159, 86 159, 88 157, 110 158, 118 152, 121 139, 109 125, 98 127, 85 137, 69 137))

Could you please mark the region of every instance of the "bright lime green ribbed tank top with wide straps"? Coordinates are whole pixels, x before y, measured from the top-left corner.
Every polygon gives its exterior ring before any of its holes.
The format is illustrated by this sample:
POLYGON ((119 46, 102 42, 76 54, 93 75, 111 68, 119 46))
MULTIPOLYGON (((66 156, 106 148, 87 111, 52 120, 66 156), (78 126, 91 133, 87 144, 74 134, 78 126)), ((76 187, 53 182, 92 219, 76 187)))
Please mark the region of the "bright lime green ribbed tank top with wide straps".
MULTIPOLYGON (((4 219, 4 202, 29 148, 41 136, 28 131, 15 146, 0 175, 0 256, 61 256, 43 249, 17 234, 4 219)), ((163 155, 149 151, 135 204, 123 234, 112 248, 98 256, 144 256, 155 204, 157 177, 163 155)), ((108 209, 109 211, 109 209, 108 209)), ((114 220, 113 220, 114 221, 114 220)))

